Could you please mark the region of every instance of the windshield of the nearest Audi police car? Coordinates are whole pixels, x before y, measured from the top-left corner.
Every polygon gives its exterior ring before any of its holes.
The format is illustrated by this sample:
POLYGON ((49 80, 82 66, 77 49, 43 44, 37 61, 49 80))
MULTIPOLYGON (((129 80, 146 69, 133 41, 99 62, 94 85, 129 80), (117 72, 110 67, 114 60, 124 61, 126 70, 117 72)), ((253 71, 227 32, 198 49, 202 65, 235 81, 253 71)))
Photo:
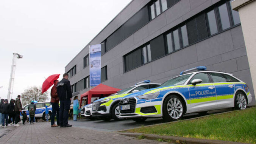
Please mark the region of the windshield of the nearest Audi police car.
POLYGON ((164 82, 164 84, 160 85, 159 87, 166 87, 170 85, 183 85, 191 75, 192 74, 186 74, 173 77, 172 79, 169 79, 168 81, 164 82))

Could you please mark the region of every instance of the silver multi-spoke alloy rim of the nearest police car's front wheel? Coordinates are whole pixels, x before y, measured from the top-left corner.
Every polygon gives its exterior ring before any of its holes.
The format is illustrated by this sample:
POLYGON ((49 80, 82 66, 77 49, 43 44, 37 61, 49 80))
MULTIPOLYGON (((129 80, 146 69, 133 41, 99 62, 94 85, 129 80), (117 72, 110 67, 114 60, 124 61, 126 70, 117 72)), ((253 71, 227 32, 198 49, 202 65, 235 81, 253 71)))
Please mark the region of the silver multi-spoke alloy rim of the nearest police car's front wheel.
POLYGON ((167 103, 167 111, 173 119, 178 119, 183 113, 182 102, 177 98, 171 98, 167 103))

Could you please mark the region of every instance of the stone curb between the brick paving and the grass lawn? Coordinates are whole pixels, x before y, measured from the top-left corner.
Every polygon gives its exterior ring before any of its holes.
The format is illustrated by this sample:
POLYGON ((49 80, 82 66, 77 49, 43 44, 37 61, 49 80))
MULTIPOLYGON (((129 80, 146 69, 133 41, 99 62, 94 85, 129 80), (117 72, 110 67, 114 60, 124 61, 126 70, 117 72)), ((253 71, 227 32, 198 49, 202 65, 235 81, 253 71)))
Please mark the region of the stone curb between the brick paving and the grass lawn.
POLYGON ((167 142, 177 143, 177 144, 247 144, 242 142, 232 142, 232 141, 221 141, 212 139, 197 139, 197 138, 184 138, 178 136, 160 136, 155 134, 142 134, 142 133, 117 133, 119 135, 138 137, 143 135, 146 139, 158 140, 162 139, 167 142))

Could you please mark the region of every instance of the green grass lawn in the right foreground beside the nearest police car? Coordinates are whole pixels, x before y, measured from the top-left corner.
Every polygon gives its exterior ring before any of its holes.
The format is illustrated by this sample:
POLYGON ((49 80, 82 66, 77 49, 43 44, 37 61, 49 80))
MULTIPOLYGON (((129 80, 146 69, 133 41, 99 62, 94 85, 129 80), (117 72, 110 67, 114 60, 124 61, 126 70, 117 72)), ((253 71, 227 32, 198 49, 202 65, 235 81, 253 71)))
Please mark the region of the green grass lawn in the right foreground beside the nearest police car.
POLYGON ((125 132, 256 143, 256 107, 125 132))

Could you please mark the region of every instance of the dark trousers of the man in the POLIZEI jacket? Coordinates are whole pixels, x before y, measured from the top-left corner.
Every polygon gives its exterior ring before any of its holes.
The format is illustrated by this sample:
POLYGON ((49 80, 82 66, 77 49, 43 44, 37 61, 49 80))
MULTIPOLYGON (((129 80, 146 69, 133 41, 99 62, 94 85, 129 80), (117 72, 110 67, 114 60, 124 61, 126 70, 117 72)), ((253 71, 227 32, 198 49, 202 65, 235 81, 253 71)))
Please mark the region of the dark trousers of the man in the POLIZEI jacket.
POLYGON ((60 125, 67 125, 69 121, 69 109, 70 109, 70 99, 62 100, 60 104, 59 111, 59 123, 60 125))

